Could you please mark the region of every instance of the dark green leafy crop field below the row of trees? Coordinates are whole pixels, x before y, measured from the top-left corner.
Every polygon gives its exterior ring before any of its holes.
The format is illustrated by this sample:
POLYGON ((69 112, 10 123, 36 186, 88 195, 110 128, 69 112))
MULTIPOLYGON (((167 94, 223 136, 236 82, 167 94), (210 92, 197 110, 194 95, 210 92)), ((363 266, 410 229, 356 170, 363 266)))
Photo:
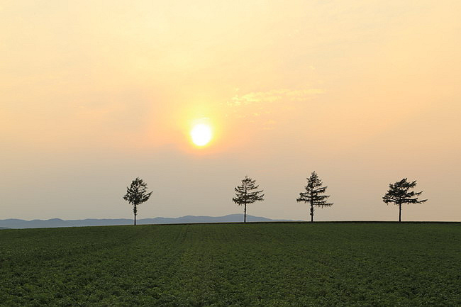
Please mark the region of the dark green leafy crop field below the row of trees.
POLYGON ((1 306, 461 306, 460 223, 0 231, 1 306))

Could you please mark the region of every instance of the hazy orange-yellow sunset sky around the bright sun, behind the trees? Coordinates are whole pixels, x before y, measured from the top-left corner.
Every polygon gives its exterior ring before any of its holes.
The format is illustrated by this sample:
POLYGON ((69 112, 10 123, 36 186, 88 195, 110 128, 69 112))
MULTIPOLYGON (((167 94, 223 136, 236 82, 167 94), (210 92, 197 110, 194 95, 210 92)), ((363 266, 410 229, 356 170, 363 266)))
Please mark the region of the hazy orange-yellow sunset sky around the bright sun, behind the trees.
POLYGON ((0 1, 0 219, 460 221, 460 1, 0 1), (196 123, 211 142, 191 143, 196 123))

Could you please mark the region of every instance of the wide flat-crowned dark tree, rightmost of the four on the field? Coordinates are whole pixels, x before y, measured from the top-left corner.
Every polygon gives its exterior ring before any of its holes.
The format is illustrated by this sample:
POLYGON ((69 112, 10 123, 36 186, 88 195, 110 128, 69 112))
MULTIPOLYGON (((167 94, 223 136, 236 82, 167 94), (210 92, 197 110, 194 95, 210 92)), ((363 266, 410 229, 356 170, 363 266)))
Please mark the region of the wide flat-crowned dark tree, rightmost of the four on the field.
POLYGON ((399 222, 401 222, 401 205, 402 203, 425 203, 427 199, 418 200, 417 196, 420 196, 423 191, 415 192, 410 191, 416 186, 416 180, 414 182, 407 182, 406 178, 395 184, 389 184, 389 190, 382 196, 384 203, 394 203, 399 206, 399 222))

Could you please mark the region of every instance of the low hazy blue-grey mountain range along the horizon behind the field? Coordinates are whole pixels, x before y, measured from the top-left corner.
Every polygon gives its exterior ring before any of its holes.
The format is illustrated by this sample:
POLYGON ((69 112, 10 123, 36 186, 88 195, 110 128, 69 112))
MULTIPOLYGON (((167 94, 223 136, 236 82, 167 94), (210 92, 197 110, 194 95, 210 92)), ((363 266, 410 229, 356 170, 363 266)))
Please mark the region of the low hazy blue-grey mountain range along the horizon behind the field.
MULTIPOLYGON (((275 222, 291 220, 272 220, 260 216, 248 216, 248 222, 275 222)), ((229 214, 228 216, 182 216, 180 218, 141 218, 138 225, 146 224, 178 224, 178 223, 235 223, 243 222, 243 214, 229 214)), ((81 226, 109 226, 109 225, 132 225, 133 219, 128 218, 87 218, 84 220, 50 220, 25 221, 17 218, 0 220, 1 228, 53 228, 53 227, 81 227, 81 226)))

